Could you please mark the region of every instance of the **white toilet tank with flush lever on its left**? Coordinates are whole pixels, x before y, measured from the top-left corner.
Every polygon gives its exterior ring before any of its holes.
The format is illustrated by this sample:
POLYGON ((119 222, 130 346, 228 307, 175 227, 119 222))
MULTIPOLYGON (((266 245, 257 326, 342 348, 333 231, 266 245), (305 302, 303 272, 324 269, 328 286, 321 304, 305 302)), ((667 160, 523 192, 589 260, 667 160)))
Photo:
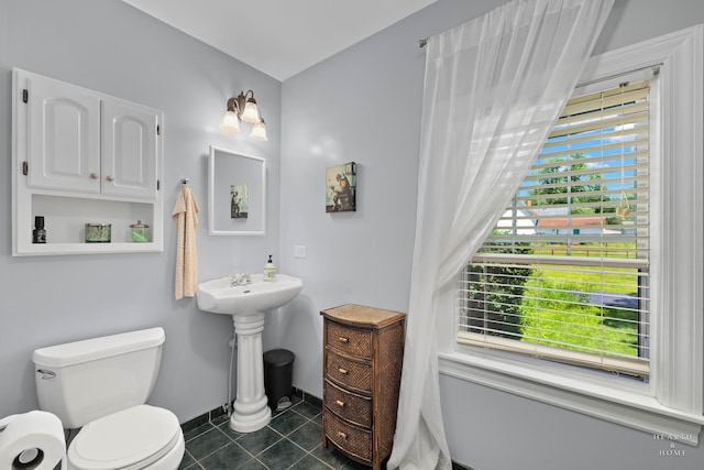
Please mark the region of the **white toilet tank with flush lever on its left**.
POLYGON ((35 350, 40 407, 78 428, 146 403, 164 340, 163 328, 150 328, 35 350))

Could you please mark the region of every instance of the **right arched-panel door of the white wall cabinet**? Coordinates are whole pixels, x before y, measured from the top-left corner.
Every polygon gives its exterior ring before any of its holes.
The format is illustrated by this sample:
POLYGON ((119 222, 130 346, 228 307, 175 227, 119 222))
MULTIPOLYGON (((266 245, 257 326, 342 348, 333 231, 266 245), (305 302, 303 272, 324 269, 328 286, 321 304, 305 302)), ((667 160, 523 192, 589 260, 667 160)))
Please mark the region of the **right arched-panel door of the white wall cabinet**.
POLYGON ((101 192, 156 198, 158 113, 120 100, 102 102, 101 192))

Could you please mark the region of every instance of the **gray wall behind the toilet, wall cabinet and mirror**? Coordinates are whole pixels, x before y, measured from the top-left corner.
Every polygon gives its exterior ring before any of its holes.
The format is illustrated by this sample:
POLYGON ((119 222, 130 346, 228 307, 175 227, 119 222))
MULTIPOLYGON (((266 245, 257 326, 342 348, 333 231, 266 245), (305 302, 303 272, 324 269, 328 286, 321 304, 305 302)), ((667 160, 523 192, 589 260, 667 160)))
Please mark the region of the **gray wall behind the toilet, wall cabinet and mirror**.
MULTIPOLYGON (((175 300, 182 178, 200 206, 201 280, 261 272, 277 254, 280 83, 119 1, 0 0, 0 416, 35 408, 37 347, 163 326, 166 345, 152 403, 182 422, 227 401, 229 317, 175 300), (20 67, 164 111, 163 253, 11 256, 11 68, 20 67), (253 88, 270 141, 231 136, 218 124, 226 101, 253 88), (209 237, 209 145, 263 156, 270 204, 265 237, 209 237)), ((51 237, 51 227, 47 227, 51 237)))

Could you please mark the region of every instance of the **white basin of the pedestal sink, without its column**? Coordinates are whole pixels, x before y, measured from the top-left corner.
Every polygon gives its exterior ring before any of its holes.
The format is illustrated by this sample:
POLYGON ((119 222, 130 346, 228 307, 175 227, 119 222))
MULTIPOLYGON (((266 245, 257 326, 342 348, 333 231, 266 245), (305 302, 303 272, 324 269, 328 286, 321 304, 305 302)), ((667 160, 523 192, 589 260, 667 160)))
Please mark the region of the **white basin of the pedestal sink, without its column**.
POLYGON ((206 281, 198 285, 198 308, 212 314, 252 314, 288 304, 304 286, 301 280, 277 274, 273 282, 252 274, 246 285, 231 286, 230 277, 206 281))

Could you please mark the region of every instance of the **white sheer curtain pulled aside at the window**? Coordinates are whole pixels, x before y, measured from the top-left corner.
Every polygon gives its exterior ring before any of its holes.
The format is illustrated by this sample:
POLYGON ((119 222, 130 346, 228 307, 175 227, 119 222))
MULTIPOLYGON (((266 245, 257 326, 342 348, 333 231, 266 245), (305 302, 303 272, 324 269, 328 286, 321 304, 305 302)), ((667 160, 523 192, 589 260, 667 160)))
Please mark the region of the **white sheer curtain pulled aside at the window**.
MULTIPOLYGON (((513 1, 427 44, 418 215, 388 469, 450 469, 437 294, 507 207, 576 85, 613 0, 513 1)), ((471 397, 468 397, 471 403, 471 397)))

